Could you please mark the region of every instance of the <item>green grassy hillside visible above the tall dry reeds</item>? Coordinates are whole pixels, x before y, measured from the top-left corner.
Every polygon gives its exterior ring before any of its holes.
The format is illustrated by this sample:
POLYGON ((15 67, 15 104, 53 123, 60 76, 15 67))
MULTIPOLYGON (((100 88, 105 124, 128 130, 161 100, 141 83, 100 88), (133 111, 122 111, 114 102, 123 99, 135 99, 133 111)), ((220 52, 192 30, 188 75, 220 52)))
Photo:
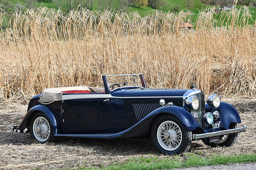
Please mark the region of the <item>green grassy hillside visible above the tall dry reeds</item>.
MULTIPOLYGON (((159 4, 156 9, 150 6, 148 4, 147 6, 138 6, 137 4, 134 5, 132 4, 132 0, 87 0, 88 2, 91 1, 91 10, 103 10, 104 5, 109 5, 112 6, 112 10, 119 10, 121 4, 121 1, 130 1, 130 3, 127 3, 126 7, 123 8, 124 11, 127 11, 129 13, 132 11, 137 11, 138 14, 140 14, 142 17, 146 14, 146 12, 151 11, 151 10, 157 10, 157 11, 162 11, 162 12, 179 12, 181 10, 189 10, 191 12, 191 21, 194 23, 199 10, 201 11, 202 9, 208 7, 208 5, 205 5, 204 3, 201 2, 201 0, 158 0, 159 4), (99 8, 99 1, 101 2, 101 9, 99 8), (104 4, 102 4, 104 2, 104 4), (189 7, 188 7, 189 3, 189 7)), ((138 0, 137 0, 138 1, 138 0)), ((148 0, 150 1, 150 0, 148 0)), ((152 0, 151 0, 152 1, 152 0)), ((155 0, 156 1, 156 0, 155 0)), ((64 13, 68 13, 70 9, 77 9, 77 6, 74 4, 74 2, 78 3, 79 2, 86 2, 86 0, 44 0, 43 2, 39 2, 39 0, 0 0, 0 4, 4 4, 5 7, 2 7, 2 10, 8 12, 10 15, 7 16, 5 15, 4 20, 2 21, 1 28, 5 29, 8 27, 9 20, 12 15, 12 11, 15 11, 16 9, 18 10, 25 10, 26 8, 29 7, 40 7, 40 6, 46 6, 48 8, 55 8, 58 9, 58 6, 62 9, 64 13), (60 3, 62 2, 62 3, 60 3), (66 3, 63 3, 66 2, 66 3), (71 8, 72 5, 68 2, 73 2, 73 7, 71 8), (70 7, 70 9, 69 9, 70 7)), ((111 7, 106 7, 111 9, 111 7)), ((240 7, 237 7, 240 8, 240 7)), ((256 8, 251 8, 250 11, 252 13, 252 19, 255 21, 255 16, 256 16, 256 8)), ((219 15, 216 15, 218 18, 219 15)), ((226 19, 224 19, 226 21, 226 19)))

